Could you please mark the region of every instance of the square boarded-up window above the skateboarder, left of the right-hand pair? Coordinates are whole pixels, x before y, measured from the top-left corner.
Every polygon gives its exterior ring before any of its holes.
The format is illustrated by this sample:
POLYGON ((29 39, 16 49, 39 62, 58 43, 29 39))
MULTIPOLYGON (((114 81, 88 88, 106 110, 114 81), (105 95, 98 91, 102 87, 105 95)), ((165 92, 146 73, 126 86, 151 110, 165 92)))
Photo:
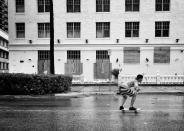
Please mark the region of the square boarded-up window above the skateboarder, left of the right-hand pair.
POLYGON ((124 63, 125 64, 140 63, 140 48, 139 47, 125 47, 124 48, 124 63))

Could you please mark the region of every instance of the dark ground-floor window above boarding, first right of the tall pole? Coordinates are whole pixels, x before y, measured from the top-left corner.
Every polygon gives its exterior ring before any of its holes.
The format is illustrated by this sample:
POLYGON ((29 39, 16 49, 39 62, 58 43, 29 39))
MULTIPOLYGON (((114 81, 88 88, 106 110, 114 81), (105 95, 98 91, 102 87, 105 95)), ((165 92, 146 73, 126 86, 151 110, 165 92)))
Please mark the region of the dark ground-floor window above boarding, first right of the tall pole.
POLYGON ((80 51, 79 50, 68 50, 67 60, 80 60, 80 51))

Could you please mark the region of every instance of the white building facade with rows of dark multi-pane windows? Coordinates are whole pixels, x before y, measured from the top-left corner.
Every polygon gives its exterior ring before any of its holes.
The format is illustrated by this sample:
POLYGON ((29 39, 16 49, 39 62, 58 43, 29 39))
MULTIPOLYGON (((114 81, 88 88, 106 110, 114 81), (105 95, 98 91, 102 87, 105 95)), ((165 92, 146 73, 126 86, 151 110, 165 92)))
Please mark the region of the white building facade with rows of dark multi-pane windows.
MULTIPOLYGON (((184 74, 183 0, 53 0, 55 73, 184 74)), ((12 0, 10 72, 49 73, 49 0, 12 0)))

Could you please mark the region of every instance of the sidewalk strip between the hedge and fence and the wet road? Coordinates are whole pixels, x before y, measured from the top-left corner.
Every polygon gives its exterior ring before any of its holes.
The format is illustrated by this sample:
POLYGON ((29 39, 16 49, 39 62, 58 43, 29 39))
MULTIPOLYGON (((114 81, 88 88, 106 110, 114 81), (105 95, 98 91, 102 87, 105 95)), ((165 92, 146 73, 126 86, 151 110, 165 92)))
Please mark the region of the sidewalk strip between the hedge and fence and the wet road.
MULTIPOLYGON (((72 86, 71 92, 48 95, 0 95, 0 99, 68 99, 116 94, 117 86, 72 86)), ((184 95, 184 86, 142 86, 140 94, 184 95)))

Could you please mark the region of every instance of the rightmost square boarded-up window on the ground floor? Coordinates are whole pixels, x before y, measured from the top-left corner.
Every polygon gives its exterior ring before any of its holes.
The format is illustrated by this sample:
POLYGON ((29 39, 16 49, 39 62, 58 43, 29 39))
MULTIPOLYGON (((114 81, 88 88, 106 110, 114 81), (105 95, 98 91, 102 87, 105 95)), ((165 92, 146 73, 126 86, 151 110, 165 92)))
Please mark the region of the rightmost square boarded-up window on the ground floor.
POLYGON ((155 47, 154 63, 170 63, 170 47, 155 47))

